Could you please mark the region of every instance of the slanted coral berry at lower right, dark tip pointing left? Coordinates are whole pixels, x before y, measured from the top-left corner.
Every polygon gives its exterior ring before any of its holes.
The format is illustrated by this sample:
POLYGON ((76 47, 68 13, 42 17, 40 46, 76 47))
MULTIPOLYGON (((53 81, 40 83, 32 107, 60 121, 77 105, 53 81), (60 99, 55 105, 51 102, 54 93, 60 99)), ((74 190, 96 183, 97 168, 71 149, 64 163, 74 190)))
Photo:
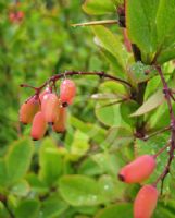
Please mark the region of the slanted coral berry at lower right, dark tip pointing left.
POLYGON ((123 167, 118 173, 118 178, 126 183, 142 182, 153 172, 155 165, 153 156, 142 155, 123 167))

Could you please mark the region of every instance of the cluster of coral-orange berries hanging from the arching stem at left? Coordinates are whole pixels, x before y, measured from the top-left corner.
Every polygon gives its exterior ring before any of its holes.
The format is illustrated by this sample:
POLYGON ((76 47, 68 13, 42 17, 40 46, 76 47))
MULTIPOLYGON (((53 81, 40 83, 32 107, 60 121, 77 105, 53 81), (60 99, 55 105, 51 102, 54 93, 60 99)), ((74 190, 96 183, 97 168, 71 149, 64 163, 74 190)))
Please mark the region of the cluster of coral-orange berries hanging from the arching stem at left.
POLYGON ((42 93, 38 89, 26 100, 20 109, 20 121, 23 124, 32 123, 30 136, 40 140, 47 131, 47 124, 52 125, 54 132, 65 131, 66 106, 73 102, 76 87, 73 81, 64 80, 60 85, 60 96, 49 86, 42 93))

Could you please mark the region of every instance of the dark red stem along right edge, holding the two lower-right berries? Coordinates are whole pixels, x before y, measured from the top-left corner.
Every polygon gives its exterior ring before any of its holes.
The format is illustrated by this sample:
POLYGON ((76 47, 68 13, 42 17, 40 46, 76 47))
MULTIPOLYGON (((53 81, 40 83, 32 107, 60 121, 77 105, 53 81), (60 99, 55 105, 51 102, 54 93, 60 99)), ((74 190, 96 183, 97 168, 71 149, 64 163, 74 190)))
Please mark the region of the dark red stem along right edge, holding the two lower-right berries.
POLYGON ((164 78, 162 69, 161 69, 161 66, 157 65, 157 70, 158 70, 158 73, 159 73, 159 75, 161 77, 161 81, 162 81, 162 84, 163 84, 163 93, 165 95, 166 102, 167 102, 167 106, 168 106, 168 112, 170 112, 170 118, 171 118, 171 130, 172 130, 171 138, 170 138, 170 146, 171 146, 170 157, 168 157, 167 164, 166 164, 162 174, 160 174, 160 177, 154 182, 154 185, 157 185, 159 181, 162 182, 161 183, 161 193, 162 193, 163 182, 164 182, 166 175, 170 172, 170 167, 171 167, 172 160, 174 158, 174 149, 175 149, 175 116, 173 113, 173 106, 172 106, 172 101, 171 101, 171 92, 170 92, 168 85, 167 85, 167 83, 166 83, 166 81, 164 78))

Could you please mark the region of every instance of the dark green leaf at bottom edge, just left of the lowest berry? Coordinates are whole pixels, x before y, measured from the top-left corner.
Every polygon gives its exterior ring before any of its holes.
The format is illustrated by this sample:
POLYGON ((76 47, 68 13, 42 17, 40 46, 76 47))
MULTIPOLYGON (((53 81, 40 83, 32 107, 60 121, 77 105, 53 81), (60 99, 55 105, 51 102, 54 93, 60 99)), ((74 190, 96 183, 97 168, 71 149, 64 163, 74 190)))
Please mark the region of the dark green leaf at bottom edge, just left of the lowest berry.
POLYGON ((95 218, 126 218, 126 217, 133 217, 133 205, 121 203, 116 205, 109 206, 101 211, 99 211, 95 218))

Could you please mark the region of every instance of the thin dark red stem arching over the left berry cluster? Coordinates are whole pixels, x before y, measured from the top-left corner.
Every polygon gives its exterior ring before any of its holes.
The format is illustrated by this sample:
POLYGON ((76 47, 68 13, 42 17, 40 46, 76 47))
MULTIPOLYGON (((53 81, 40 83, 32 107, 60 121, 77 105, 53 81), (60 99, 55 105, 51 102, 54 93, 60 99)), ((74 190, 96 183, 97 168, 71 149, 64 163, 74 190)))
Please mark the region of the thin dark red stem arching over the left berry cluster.
MULTIPOLYGON (((38 88, 37 87, 32 87, 32 88, 34 88, 36 90, 36 94, 39 94, 41 92, 41 89, 45 86, 47 86, 49 83, 52 82, 54 84, 58 80, 65 77, 67 75, 70 75, 70 76, 73 76, 73 75, 96 75, 96 76, 100 76, 100 77, 110 78, 110 80, 115 81, 117 83, 123 83, 124 85, 132 88, 132 85, 127 81, 124 81, 122 78, 118 78, 118 77, 110 75, 110 74, 107 74, 104 72, 82 72, 82 71, 70 71, 70 72, 65 72, 65 73, 55 74, 52 77, 50 77, 47 82, 45 82, 41 86, 39 86, 38 88)), ((30 87, 30 86, 27 85, 27 84, 21 84, 21 87, 30 87)))

